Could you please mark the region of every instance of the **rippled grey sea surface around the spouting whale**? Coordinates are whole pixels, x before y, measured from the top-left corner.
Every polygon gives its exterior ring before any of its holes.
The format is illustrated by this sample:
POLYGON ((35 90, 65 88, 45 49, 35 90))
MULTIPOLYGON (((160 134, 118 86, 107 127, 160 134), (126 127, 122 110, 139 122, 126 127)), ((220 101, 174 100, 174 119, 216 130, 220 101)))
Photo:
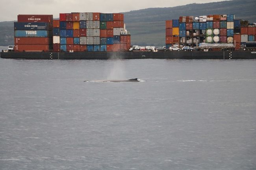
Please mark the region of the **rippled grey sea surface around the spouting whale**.
POLYGON ((256 60, 1 58, 0 122, 1 170, 255 170, 256 60))

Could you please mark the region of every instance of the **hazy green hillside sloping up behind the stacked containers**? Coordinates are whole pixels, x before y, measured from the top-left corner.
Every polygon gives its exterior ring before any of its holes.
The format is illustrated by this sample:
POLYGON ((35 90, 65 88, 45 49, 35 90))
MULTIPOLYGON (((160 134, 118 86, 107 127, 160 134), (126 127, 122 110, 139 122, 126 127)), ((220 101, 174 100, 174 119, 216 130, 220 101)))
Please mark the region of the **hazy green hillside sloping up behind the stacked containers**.
MULTIPOLYGON (((126 29, 132 35, 132 44, 162 46, 165 44, 165 20, 189 15, 234 14, 236 19, 256 22, 255 6, 255 0, 230 0, 177 7, 148 8, 124 13, 124 22, 126 29)), ((13 21, 0 22, 0 46, 13 44, 13 40, 13 21)))

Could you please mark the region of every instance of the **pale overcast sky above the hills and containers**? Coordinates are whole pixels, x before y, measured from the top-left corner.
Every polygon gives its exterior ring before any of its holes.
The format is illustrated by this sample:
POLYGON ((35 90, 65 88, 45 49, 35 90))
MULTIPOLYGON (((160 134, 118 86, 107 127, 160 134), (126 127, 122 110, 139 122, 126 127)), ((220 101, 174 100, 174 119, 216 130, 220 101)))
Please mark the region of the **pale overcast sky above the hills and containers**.
POLYGON ((1 0, 0 22, 17 20, 18 14, 49 14, 59 18, 59 13, 119 13, 150 7, 218 1, 223 0, 1 0))

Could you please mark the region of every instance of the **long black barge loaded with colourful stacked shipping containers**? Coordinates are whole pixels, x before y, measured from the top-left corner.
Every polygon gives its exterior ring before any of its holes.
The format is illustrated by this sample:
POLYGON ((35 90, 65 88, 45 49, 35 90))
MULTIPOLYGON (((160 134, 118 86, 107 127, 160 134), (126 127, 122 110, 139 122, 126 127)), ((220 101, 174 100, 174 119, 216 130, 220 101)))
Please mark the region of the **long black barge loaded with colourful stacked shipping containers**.
POLYGON ((14 52, 2 51, 1 58, 256 58, 256 27, 236 20, 234 15, 180 16, 167 20, 166 49, 158 52, 129 51, 131 35, 121 13, 60 13, 58 20, 53 15, 18 15, 17 19, 14 52), (173 46, 194 50, 170 51, 173 46))

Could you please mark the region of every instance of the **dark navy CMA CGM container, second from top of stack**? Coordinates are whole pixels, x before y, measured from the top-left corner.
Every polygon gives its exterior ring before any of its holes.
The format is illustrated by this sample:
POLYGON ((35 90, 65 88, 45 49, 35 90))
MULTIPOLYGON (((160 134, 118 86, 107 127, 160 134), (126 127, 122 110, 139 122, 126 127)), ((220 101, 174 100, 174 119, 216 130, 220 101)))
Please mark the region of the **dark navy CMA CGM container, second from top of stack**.
POLYGON ((14 22, 14 30, 51 30, 48 22, 14 22))

